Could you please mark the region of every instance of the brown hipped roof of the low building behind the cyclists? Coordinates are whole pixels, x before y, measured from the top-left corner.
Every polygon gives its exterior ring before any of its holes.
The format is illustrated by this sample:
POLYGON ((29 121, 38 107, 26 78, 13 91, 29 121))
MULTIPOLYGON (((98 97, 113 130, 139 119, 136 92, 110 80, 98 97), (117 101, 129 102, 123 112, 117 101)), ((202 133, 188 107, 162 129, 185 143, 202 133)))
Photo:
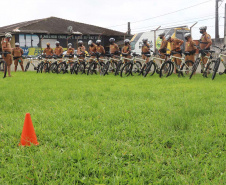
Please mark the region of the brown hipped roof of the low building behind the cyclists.
POLYGON ((68 27, 72 26, 72 32, 80 32, 83 35, 106 35, 106 36, 123 36, 124 33, 84 24, 80 22, 61 19, 58 17, 49 17, 32 21, 21 22, 9 26, 0 27, 0 33, 46 33, 46 34, 69 34, 68 27))

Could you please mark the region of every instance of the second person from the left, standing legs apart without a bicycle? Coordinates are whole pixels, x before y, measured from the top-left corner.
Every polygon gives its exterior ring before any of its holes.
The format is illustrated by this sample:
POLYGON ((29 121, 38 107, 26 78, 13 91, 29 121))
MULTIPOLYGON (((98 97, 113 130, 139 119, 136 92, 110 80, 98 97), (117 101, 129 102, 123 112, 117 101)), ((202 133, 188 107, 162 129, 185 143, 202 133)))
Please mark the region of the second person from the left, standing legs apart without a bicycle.
POLYGON ((23 54, 24 54, 24 51, 20 48, 20 44, 16 42, 15 48, 12 51, 12 55, 14 58, 15 72, 17 71, 18 62, 21 66, 22 71, 24 72, 23 59, 22 59, 23 54))

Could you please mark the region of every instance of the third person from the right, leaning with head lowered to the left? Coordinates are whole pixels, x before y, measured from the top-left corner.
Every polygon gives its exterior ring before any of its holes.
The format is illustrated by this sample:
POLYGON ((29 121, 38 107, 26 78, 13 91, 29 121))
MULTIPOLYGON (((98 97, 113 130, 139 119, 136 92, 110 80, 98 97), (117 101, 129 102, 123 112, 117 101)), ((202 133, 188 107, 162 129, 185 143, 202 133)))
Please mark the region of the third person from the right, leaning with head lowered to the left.
MULTIPOLYGON (((166 40, 170 43, 170 48, 171 52, 175 51, 177 52, 176 54, 173 54, 175 57, 182 57, 182 50, 181 50, 181 45, 184 43, 183 40, 180 40, 178 38, 171 38, 170 35, 166 36, 166 40)), ((176 65, 181 65, 181 60, 180 59, 174 59, 176 65)), ((174 73, 176 73, 176 68, 174 69, 174 73)))

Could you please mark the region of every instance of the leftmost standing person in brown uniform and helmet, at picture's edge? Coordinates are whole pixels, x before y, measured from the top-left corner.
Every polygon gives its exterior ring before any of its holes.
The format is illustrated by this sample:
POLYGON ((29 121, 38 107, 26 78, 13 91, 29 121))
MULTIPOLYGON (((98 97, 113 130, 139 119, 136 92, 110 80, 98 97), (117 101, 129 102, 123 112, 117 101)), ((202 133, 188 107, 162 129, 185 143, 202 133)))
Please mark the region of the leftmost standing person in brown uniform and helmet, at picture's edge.
POLYGON ((12 65, 12 48, 11 48, 11 41, 12 35, 10 33, 6 33, 5 34, 5 38, 2 40, 1 44, 2 44, 2 51, 6 52, 5 54, 3 54, 3 59, 6 62, 6 66, 7 66, 7 71, 8 71, 8 77, 11 77, 11 65, 12 65))

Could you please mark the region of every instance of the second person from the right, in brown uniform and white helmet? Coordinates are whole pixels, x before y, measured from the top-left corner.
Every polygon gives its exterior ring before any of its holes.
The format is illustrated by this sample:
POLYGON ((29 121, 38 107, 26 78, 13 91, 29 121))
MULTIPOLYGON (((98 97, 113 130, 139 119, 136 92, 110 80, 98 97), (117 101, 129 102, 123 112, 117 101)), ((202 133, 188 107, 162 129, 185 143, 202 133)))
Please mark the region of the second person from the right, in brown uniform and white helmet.
POLYGON ((191 60, 192 62, 195 62, 195 52, 197 47, 195 46, 195 42, 191 38, 191 33, 186 33, 184 35, 184 38, 186 40, 184 51, 189 52, 189 54, 185 56, 185 61, 191 60))

